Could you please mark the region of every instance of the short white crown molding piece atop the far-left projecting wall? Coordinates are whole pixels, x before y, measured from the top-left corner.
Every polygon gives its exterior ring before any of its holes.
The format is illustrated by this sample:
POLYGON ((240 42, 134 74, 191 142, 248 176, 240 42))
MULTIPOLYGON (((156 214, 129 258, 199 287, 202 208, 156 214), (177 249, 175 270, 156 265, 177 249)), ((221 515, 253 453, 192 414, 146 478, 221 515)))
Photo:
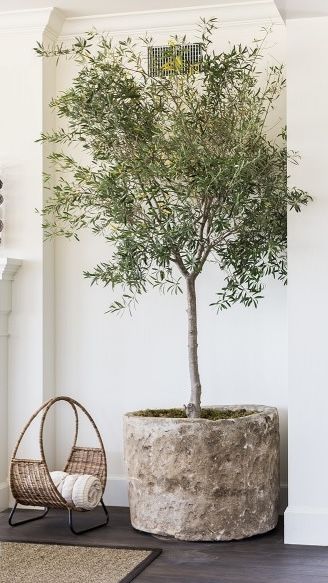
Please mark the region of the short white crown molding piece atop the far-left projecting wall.
POLYGON ((0 12, 0 33, 45 34, 57 38, 64 23, 64 15, 58 8, 15 10, 0 12))

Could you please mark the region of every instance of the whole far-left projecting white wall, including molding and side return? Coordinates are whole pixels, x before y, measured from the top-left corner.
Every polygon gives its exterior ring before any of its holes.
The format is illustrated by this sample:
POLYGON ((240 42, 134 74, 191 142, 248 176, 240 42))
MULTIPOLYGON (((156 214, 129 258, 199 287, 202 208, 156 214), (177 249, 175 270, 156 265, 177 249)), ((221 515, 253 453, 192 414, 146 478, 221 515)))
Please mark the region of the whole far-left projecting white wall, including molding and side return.
MULTIPOLYGON (((43 148, 35 140, 46 128, 54 70, 33 50, 38 40, 54 38, 52 28, 48 28, 56 24, 54 16, 51 9, 0 14, 0 164, 5 196, 0 252, 22 260, 13 283, 9 323, 9 457, 27 418, 54 392, 54 257, 51 247, 43 245, 41 218, 35 212, 45 196, 43 148)), ((54 434, 50 458, 54 457, 53 448, 54 434)), ((36 429, 21 453, 39 455, 36 429)), ((1 457, 7 467, 7 455, 3 459, 2 452, 1 457)))

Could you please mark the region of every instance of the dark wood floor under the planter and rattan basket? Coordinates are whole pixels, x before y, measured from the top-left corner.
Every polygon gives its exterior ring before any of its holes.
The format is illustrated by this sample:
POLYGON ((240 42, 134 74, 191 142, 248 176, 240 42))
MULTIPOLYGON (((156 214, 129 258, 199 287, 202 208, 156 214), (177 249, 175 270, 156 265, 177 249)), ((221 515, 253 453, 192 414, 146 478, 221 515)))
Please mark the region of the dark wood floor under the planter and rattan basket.
MULTIPOLYGON (((268 535, 240 542, 184 543, 133 530, 127 508, 110 508, 110 526, 80 537, 70 533, 61 510, 17 528, 8 526, 7 517, 0 513, 0 540, 162 548, 138 583, 328 583, 328 548, 284 545, 282 522, 268 535)), ((78 518, 85 524, 96 517, 78 518)))

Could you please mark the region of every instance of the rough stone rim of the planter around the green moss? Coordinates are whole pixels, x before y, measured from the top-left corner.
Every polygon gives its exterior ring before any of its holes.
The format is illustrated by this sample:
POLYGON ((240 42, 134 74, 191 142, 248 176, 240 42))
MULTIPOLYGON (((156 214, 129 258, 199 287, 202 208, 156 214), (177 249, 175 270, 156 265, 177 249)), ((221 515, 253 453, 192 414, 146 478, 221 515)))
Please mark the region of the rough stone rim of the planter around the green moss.
MULTIPOLYGON (((278 409, 277 407, 273 407, 273 406, 268 406, 268 405, 205 405, 206 409, 229 409, 229 410, 236 410, 236 409, 246 409, 246 411, 251 410, 251 411, 255 411, 254 413, 252 413, 251 415, 245 415, 244 417, 236 417, 236 418, 231 418, 231 419, 216 419, 216 420, 212 420, 212 419, 203 419, 203 418, 198 418, 198 419, 189 419, 189 418, 184 418, 184 417, 144 417, 142 415, 136 415, 136 413, 139 413, 140 411, 142 411, 142 409, 139 409, 137 411, 129 411, 128 413, 124 414, 124 417, 126 417, 127 419, 137 419, 140 422, 159 422, 159 423, 168 423, 168 422, 174 422, 174 423, 211 423, 213 424, 217 424, 217 423, 229 423, 229 422, 243 422, 244 420, 247 419, 256 419, 261 417, 263 414, 264 415, 270 415, 270 414, 277 414, 278 413, 278 409)), ((156 408, 154 409, 156 411, 156 408)), ((161 409, 158 409, 161 410, 161 409)))

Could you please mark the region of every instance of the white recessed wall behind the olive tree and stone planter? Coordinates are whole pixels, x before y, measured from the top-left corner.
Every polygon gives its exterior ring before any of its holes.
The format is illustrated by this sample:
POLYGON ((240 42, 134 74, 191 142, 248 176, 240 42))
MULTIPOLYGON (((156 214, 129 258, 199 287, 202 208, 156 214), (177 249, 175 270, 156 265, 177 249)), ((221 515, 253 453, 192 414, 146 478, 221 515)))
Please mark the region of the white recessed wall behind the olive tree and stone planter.
MULTIPOLYGON (((202 14, 194 14, 197 22, 202 14)), ((190 15, 186 28, 192 30, 190 15)), ((252 41, 262 22, 221 25, 218 47, 252 41)), ((132 25, 132 22, 131 22, 132 25)), ((165 43, 165 20, 153 33, 165 43)), ((126 27, 128 28, 128 26, 126 27)), ((125 28, 125 30, 126 30, 125 28)), ((64 28, 65 30, 65 28, 64 28)), ((179 31, 183 31, 183 22, 179 31)), ((116 31, 119 37, 119 31, 116 31)), ((126 33, 127 34, 127 33, 126 33)), ((285 60, 285 30, 275 26, 268 41, 268 61, 285 60)), ((72 64, 58 68, 57 91, 72 79, 72 64)), ((279 105, 285 123, 284 100, 279 105)), ((122 416, 149 407, 181 406, 188 401, 189 378, 184 297, 144 296, 130 318, 105 315, 112 301, 109 289, 83 279, 108 256, 106 244, 85 233, 80 243, 56 241, 56 387, 81 400, 94 414, 109 457, 111 482, 106 500, 126 504, 122 455, 122 416)), ((282 430, 282 483, 286 472, 287 336, 286 289, 270 282, 258 310, 234 307, 219 316, 209 307, 221 277, 207 268, 199 280, 200 369, 204 404, 263 403, 279 407, 282 430)), ((57 462, 67 453, 71 417, 57 417, 57 462)), ((85 436, 87 439, 87 435, 85 436)))

